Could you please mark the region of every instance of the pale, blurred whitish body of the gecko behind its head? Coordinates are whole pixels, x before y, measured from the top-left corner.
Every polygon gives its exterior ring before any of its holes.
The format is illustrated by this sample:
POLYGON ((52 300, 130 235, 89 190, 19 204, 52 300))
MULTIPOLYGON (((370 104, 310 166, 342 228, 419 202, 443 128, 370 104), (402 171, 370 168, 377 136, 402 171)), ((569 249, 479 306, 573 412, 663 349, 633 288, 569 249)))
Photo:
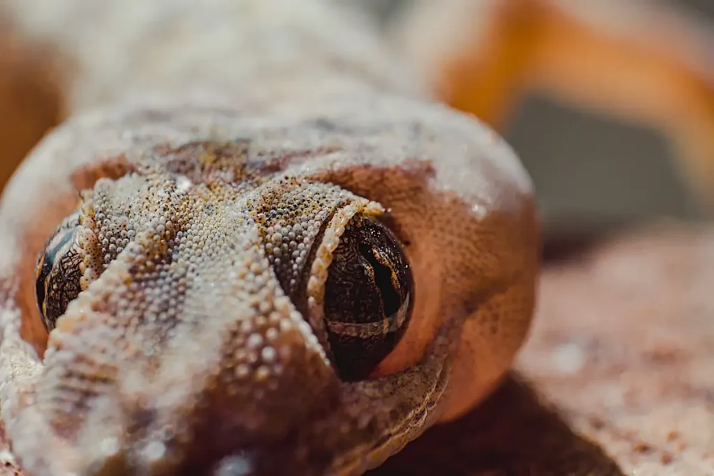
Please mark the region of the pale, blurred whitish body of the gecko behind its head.
POLYGON ((336 96, 427 96, 376 26, 334 1, 208 0, 199 8, 191 0, 111 0, 89 14, 85 0, 41 9, 31 7, 36 1, 12 8, 30 34, 59 41, 74 65, 69 116, 127 101, 265 111, 336 96), (101 31, 112 35, 97 38, 101 31))

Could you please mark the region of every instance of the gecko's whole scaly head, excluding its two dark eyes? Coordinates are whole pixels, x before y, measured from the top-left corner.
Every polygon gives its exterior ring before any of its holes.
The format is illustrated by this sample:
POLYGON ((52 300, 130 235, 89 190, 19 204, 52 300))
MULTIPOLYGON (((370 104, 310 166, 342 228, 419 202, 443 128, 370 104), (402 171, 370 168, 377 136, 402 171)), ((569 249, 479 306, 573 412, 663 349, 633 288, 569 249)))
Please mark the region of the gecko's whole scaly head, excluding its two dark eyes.
POLYGON ((472 118, 365 91, 115 106, 36 148, 0 208, 0 398, 29 474, 358 475, 488 395, 531 321, 531 183, 472 118), (47 340, 34 264, 78 206, 86 289, 47 340), (401 243, 414 301, 346 382, 323 296, 355 214, 401 243))

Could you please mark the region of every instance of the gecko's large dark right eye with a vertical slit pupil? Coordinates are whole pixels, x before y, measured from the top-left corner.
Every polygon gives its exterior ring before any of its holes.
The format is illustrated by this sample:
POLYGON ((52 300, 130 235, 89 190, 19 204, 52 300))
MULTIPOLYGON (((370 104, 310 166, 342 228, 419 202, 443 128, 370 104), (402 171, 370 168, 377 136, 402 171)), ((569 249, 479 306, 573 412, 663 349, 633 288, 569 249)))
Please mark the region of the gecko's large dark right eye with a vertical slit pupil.
POLYGON ((413 303, 411 269, 386 226, 356 215, 333 253, 325 318, 342 380, 366 378, 406 331, 413 303))

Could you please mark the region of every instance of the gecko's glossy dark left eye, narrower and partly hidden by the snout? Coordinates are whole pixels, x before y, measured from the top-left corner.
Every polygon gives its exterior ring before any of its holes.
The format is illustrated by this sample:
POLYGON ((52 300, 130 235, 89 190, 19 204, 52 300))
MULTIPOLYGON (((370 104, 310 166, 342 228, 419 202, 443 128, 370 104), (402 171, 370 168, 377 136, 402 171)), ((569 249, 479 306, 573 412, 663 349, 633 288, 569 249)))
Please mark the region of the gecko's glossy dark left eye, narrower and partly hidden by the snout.
POLYGON ((66 218, 46 241, 35 268, 35 293, 47 332, 79 295, 81 255, 77 248, 79 213, 66 218))

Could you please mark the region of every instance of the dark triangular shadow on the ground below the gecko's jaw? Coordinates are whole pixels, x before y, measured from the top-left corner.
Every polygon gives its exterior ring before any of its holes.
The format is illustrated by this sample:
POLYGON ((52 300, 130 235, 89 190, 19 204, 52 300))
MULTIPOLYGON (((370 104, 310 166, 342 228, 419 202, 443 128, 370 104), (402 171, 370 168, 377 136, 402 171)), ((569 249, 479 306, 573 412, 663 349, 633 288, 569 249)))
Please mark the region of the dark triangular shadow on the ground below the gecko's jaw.
POLYGON ((438 425, 370 476, 620 476, 594 442, 575 434, 557 411, 513 375, 483 405, 438 425))

